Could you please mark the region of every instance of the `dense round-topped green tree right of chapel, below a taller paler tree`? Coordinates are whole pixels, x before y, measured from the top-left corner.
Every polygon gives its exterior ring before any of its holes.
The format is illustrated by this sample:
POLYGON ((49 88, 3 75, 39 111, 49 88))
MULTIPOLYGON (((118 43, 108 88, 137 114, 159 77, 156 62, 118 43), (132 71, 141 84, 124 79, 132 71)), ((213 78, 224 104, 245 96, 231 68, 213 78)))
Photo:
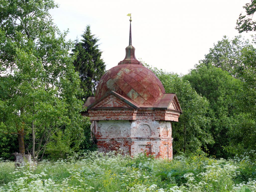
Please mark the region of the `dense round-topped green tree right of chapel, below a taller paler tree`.
POLYGON ((220 68, 198 65, 184 76, 196 92, 206 97, 210 103, 211 133, 215 144, 208 146, 210 154, 227 157, 222 146, 229 143, 228 131, 233 123, 233 114, 239 110, 241 82, 220 68))

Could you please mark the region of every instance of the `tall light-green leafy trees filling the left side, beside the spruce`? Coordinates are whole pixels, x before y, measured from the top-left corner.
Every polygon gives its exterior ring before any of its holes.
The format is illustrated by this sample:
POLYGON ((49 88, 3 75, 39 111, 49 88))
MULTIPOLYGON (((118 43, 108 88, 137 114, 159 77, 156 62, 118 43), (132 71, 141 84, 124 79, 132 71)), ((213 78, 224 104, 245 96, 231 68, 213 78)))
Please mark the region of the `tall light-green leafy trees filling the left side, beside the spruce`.
POLYGON ((0 129, 20 136, 20 151, 24 136, 35 137, 28 150, 41 158, 60 135, 73 150, 84 140, 77 99, 83 92, 68 53, 73 44, 52 22, 55 7, 52 0, 2 0, 0 6, 0 129))

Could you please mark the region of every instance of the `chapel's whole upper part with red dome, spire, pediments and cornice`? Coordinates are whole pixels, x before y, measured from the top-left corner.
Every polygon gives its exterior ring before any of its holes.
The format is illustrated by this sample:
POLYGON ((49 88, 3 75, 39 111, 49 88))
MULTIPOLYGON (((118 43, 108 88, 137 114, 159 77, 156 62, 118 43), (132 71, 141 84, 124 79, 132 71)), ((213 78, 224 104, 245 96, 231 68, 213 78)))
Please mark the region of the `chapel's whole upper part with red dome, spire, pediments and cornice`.
MULTIPOLYGON (((87 112, 84 114, 89 116, 90 110, 94 112, 96 110, 92 117, 97 116, 97 120, 102 118, 110 120, 117 118, 116 120, 119 120, 120 116, 114 117, 115 113, 111 110, 123 108, 125 118, 122 118, 134 119, 134 113, 131 114, 130 111, 128 114, 126 109, 147 108, 152 110, 152 108, 157 108, 176 111, 177 113, 173 116, 164 115, 163 119, 165 121, 178 121, 178 116, 182 110, 177 96, 174 93, 165 93, 164 86, 157 76, 135 58, 135 48, 132 46, 131 19, 129 46, 125 48, 125 51, 124 60, 101 77, 95 97, 87 98, 84 103, 87 112), (109 117, 105 116, 105 112, 97 112, 97 110, 102 109, 110 109, 110 113, 105 111, 109 117)), ((91 120, 94 119, 92 117, 90 115, 91 120)), ((162 116, 158 119, 161 120, 162 116)))

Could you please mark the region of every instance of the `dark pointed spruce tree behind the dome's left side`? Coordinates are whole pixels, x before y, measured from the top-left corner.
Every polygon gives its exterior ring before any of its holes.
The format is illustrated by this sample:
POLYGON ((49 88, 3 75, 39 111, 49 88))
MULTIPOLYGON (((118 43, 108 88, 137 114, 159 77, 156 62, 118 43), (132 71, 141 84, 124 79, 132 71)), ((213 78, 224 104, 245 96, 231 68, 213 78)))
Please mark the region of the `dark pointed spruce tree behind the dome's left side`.
POLYGON ((96 87, 105 73, 106 65, 101 59, 102 51, 98 48, 99 39, 91 34, 90 25, 86 26, 86 31, 81 36, 82 40, 76 41, 72 55, 78 52, 73 64, 75 70, 79 72, 81 88, 85 93, 83 98, 87 99, 95 95, 96 87))

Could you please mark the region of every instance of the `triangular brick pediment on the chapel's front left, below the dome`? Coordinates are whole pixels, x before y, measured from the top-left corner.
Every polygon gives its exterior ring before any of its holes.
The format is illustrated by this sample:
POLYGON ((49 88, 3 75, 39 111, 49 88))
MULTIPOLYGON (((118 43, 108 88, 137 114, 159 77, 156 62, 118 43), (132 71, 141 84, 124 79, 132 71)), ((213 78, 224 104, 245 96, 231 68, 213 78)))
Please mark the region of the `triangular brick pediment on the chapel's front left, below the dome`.
POLYGON ((124 99, 119 98, 114 94, 109 94, 108 96, 102 98, 98 102, 94 103, 90 109, 94 108, 134 108, 133 106, 129 105, 129 102, 125 102, 124 99))

